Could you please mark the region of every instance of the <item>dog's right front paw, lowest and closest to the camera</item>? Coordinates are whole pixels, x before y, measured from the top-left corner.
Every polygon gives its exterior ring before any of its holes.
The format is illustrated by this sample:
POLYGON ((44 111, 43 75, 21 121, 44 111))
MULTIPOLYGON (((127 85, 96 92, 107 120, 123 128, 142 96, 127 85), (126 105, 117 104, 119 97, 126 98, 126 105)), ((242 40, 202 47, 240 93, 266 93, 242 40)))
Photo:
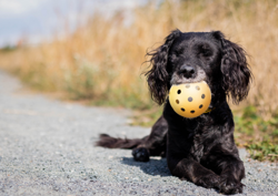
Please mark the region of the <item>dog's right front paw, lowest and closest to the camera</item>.
POLYGON ((242 193, 244 184, 235 179, 234 176, 221 176, 219 192, 226 195, 242 193))

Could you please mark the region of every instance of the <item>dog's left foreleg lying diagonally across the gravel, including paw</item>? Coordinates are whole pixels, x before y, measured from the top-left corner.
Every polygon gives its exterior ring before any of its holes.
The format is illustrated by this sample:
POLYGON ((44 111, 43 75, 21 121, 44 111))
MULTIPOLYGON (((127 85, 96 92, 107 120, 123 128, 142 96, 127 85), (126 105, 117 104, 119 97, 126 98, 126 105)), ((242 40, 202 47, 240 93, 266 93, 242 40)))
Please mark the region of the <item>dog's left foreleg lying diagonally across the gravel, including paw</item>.
POLYGON ((173 176, 191 180, 193 184, 216 188, 220 177, 191 158, 175 158, 167 156, 168 167, 173 176))

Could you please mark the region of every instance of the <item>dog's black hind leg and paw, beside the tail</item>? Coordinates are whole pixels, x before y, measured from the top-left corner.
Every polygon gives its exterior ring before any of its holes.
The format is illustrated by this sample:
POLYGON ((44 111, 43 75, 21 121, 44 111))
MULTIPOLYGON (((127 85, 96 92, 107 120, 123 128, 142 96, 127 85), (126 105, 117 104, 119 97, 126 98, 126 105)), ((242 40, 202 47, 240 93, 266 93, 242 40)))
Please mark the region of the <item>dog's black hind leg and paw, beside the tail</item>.
POLYGON ((133 148, 132 155, 135 161, 148 162, 150 156, 165 156, 167 131, 168 124, 161 116, 152 126, 151 133, 146 142, 133 148))

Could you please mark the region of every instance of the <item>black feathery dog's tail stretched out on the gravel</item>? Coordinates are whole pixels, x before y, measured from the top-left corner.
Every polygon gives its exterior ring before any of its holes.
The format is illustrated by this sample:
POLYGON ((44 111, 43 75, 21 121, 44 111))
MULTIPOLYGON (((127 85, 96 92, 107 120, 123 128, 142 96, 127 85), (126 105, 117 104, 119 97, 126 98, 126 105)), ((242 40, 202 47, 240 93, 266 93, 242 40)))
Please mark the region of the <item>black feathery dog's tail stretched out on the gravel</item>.
POLYGON ((111 137, 108 134, 100 134, 99 141, 96 142, 96 146, 102 146, 108 148, 125 148, 125 149, 132 149, 140 145, 147 138, 116 138, 111 137))

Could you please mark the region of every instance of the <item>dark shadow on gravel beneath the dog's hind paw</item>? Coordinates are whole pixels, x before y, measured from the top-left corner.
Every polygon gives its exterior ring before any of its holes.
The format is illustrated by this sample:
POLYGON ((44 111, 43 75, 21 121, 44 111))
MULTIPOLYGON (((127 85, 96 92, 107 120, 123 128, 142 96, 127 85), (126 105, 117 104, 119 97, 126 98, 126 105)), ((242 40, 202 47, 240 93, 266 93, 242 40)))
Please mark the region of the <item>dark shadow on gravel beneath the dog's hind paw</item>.
POLYGON ((137 166, 140 167, 140 169, 149 175, 152 176, 171 176, 171 173, 169 172, 167 167, 166 158, 161 159, 155 159, 150 158, 149 162, 136 162, 131 157, 122 157, 122 163, 130 166, 137 166))

